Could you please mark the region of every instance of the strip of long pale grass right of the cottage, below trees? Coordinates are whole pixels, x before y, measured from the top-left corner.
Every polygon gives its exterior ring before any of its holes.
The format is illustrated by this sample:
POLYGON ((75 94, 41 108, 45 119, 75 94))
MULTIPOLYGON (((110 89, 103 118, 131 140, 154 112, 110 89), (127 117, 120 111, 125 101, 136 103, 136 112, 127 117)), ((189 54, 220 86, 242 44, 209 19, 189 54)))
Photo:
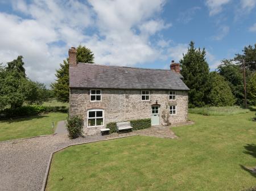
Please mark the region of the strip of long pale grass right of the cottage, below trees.
POLYGON ((203 114, 205 116, 231 116, 250 112, 249 109, 243 109, 239 106, 189 108, 188 111, 189 113, 203 114))

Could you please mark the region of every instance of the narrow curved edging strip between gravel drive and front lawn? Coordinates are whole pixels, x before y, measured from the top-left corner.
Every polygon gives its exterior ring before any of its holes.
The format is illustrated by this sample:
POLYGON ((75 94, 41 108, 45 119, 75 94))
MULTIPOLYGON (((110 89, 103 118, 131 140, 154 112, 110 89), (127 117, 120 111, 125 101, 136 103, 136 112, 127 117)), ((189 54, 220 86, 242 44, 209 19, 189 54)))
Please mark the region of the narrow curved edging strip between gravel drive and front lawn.
POLYGON ((71 144, 71 145, 65 146, 63 148, 60 148, 59 150, 53 151, 51 153, 50 157, 49 157, 49 160, 48 160, 48 164, 47 164, 47 168, 46 168, 46 173, 44 174, 44 180, 43 180, 43 185, 42 185, 41 191, 45 191, 46 190, 46 184, 47 184, 47 179, 48 179, 48 175, 49 175, 49 168, 51 168, 51 163, 52 163, 52 156, 56 152, 59 152, 61 150, 64 150, 65 148, 68 148, 68 147, 71 147, 71 146, 84 145, 84 144, 88 144, 88 143, 95 143, 95 142, 101 142, 101 141, 109 141, 109 140, 113 140, 113 139, 120 139, 120 138, 126 138, 126 137, 134 137, 134 136, 138 136, 138 135, 125 135, 123 137, 114 137, 114 138, 107 138, 107 139, 102 139, 102 140, 97 140, 97 141, 90 141, 90 142, 84 142, 84 143, 75 143, 75 144, 71 144))

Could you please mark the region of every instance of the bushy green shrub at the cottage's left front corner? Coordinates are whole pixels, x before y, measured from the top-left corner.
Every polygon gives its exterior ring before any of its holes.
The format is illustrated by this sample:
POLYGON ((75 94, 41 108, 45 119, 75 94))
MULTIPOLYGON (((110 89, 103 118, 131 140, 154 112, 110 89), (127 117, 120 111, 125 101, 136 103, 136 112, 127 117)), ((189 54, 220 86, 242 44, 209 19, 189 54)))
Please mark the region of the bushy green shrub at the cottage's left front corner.
POLYGON ((82 118, 80 116, 72 116, 67 121, 68 137, 74 139, 82 136, 82 118))

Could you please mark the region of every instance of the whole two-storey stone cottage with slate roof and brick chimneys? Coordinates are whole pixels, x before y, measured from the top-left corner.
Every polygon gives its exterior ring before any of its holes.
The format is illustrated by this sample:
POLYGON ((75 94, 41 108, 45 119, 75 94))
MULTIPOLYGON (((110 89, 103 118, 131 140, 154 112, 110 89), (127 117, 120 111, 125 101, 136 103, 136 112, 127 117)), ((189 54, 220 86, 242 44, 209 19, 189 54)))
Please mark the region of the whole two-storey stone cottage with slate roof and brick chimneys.
POLYGON ((152 125, 187 121, 188 90, 180 65, 170 70, 77 63, 69 49, 69 114, 84 119, 85 134, 109 122, 151 118, 152 125))

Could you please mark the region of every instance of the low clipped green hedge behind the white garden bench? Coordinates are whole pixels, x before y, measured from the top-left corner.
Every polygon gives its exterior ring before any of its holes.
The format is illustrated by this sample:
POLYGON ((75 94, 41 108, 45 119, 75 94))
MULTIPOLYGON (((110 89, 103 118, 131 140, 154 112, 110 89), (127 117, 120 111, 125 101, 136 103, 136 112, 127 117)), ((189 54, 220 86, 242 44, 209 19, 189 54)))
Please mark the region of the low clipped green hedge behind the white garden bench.
MULTIPOLYGON (((133 130, 147 129, 151 127, 151 118, 143 118, 141 120, 130 120, 133 130)), ((106 125, 110 129, 110 133, 117 131, 117 122, 110 122, 106 125)))

